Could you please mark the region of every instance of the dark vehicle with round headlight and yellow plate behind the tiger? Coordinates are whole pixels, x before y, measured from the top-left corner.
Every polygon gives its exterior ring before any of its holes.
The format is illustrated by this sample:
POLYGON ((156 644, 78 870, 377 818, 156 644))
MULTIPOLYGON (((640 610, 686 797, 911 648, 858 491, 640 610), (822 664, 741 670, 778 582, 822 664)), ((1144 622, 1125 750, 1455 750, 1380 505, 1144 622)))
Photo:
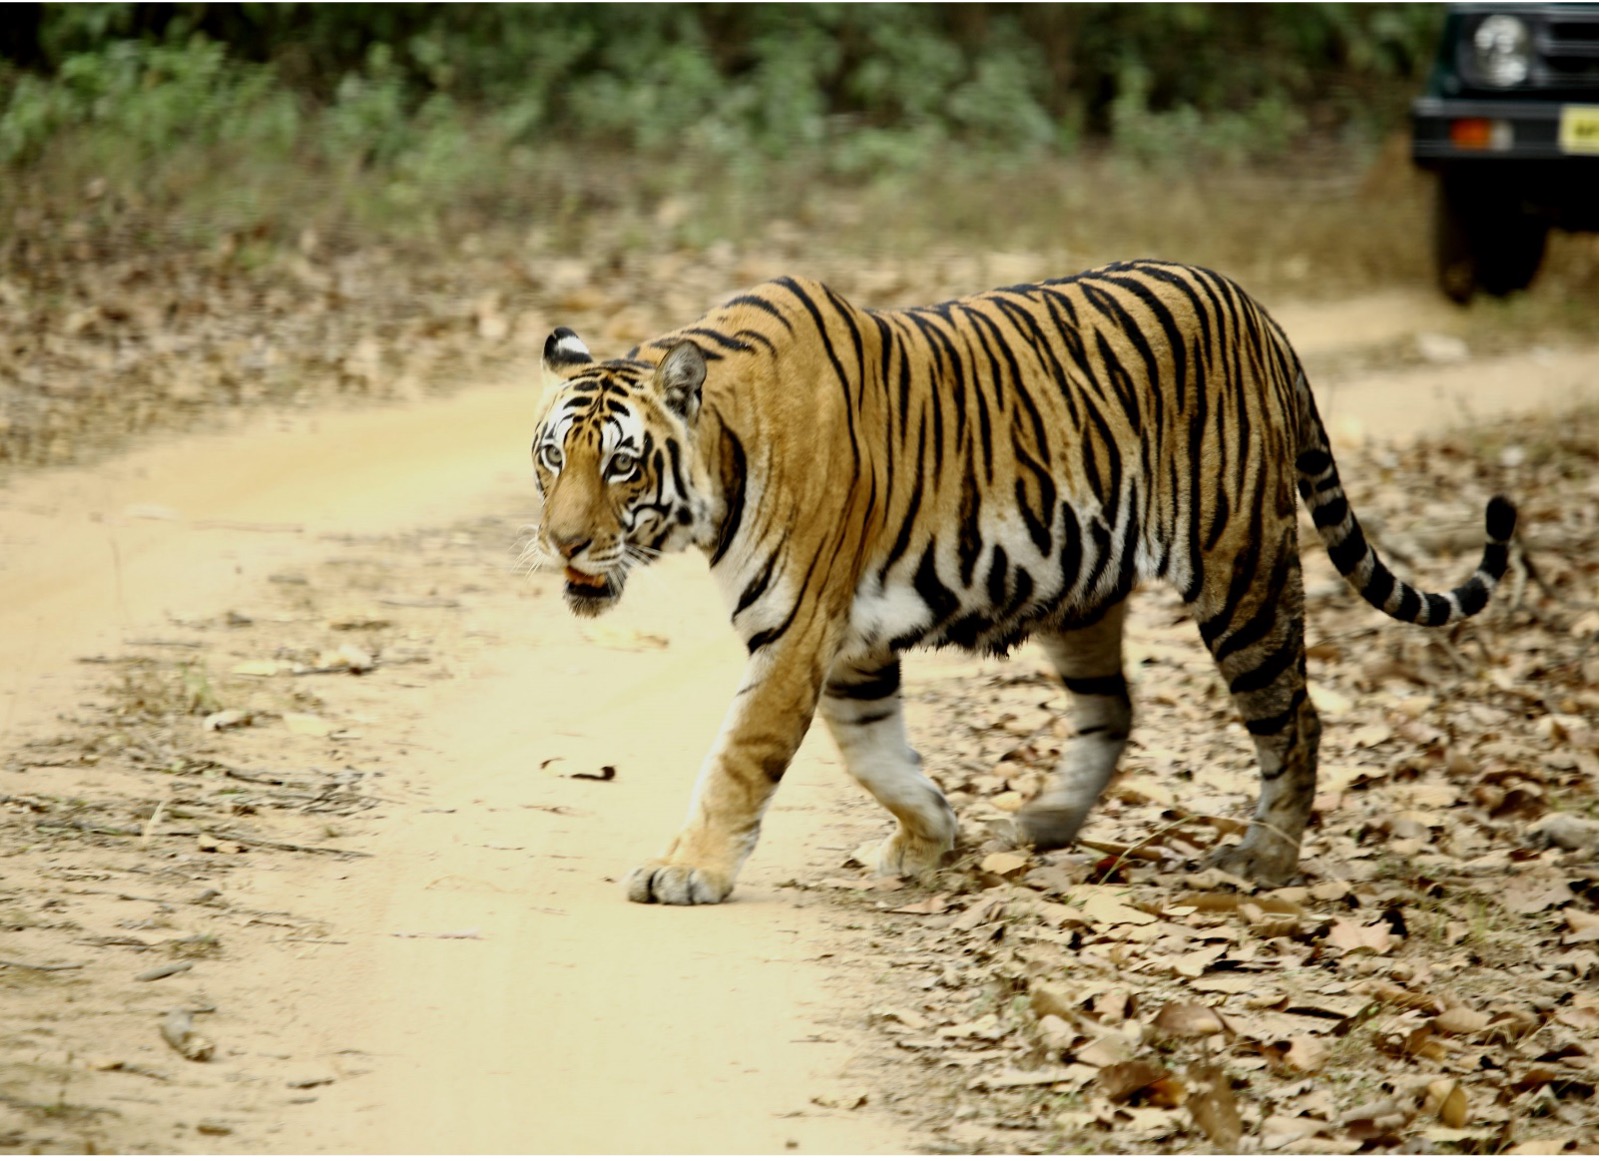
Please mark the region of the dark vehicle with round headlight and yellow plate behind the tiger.
POLYGON ((1596 3, 1447 10, 1413 157, 1437 175, 1437 281, 1455 301, 1525 287, 1549 229, 1598 231, 1598 29, 1596 3))

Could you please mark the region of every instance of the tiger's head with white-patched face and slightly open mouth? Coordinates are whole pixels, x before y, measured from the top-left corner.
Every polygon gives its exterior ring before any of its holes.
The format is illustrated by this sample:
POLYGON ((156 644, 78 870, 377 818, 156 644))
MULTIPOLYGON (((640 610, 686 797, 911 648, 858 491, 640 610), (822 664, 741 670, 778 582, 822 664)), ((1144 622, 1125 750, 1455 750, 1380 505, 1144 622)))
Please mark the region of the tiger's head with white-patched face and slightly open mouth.
POLYGON ((637 564, 707 537, 712 502, 696 455, 707 362, 691 342, 661 362, 598 362, 568 327, 545 340, 547 393, 529 454, 541 516, 525 555, 561 568, 585 617, 624 593, 637 564))

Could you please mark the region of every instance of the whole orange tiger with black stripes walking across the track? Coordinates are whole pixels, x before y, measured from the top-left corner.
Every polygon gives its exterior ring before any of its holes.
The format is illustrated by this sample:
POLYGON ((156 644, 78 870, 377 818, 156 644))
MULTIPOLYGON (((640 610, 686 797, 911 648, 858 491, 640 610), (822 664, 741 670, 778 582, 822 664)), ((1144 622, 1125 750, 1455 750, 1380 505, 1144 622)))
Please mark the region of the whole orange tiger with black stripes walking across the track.
POLYGON ((1418 625, 1479 613, 1514 536, 1495 496, 1469 580, 1399 579, 1280 326, 1229 277, 1173 261, 908 309, 788 276, 616 359, 558 327, 542 364, 536 566, 592 617, 634 569, 698 548, 746 643, 683 826, 627 877, 638 903, 730 896, 815 714, 895 818, 873 869, 935 869, 958 821, 906 739, 900 657, 916 646, 1039 641, 1070 731, 1014 819, 1027 847, 1071 845, 1131 733, 1121 637, 1139 582, 1179 592, 1254 746, 1253 819, 1209 861, 1285 884, 1320 742, 1298 497, 1349 585, 1418 625))

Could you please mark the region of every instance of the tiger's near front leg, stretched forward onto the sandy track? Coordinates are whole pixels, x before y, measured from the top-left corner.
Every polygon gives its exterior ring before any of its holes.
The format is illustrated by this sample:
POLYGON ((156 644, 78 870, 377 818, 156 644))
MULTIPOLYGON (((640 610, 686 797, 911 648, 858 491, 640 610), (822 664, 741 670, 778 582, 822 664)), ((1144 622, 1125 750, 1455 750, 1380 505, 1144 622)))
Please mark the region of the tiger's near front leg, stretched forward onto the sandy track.
POLYGON ((703 763, 685 826, 629 876, 635 903, 720 903, 757 845, 764 810, 802 744, 823 685, 816 641, 757 649, 703 763))

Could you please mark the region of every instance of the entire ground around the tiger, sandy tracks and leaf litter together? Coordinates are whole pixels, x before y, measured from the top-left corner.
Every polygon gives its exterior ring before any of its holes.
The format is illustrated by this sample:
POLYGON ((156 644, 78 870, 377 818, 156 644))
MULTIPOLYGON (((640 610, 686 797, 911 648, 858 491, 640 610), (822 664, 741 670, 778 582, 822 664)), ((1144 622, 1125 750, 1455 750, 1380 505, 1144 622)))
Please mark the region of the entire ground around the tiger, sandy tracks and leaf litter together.
POLYGON ((0 1148, 1594 1153, 1596 297, 1590 330, 1266 295, 1400 571, 1463 579, 1495 491, 1524 545, 1452 632, 1306 550, 1301 882, 1198 869, 1256 775, 1152 590, 1075 850, 1012 840, 1063 738, 1035 651, 932 654, 909 730, 962 819, 932 882, 852 864, 885 821, 815 731, 733 900, 638 908, 741 651, 696 560, 585 624, 513 568, 541 340, 621 348, 781 271, 871 305, 1065 273, 770 236, 433 266, 310 237, 263 281, 87 234, 8 268, 0 1148))

